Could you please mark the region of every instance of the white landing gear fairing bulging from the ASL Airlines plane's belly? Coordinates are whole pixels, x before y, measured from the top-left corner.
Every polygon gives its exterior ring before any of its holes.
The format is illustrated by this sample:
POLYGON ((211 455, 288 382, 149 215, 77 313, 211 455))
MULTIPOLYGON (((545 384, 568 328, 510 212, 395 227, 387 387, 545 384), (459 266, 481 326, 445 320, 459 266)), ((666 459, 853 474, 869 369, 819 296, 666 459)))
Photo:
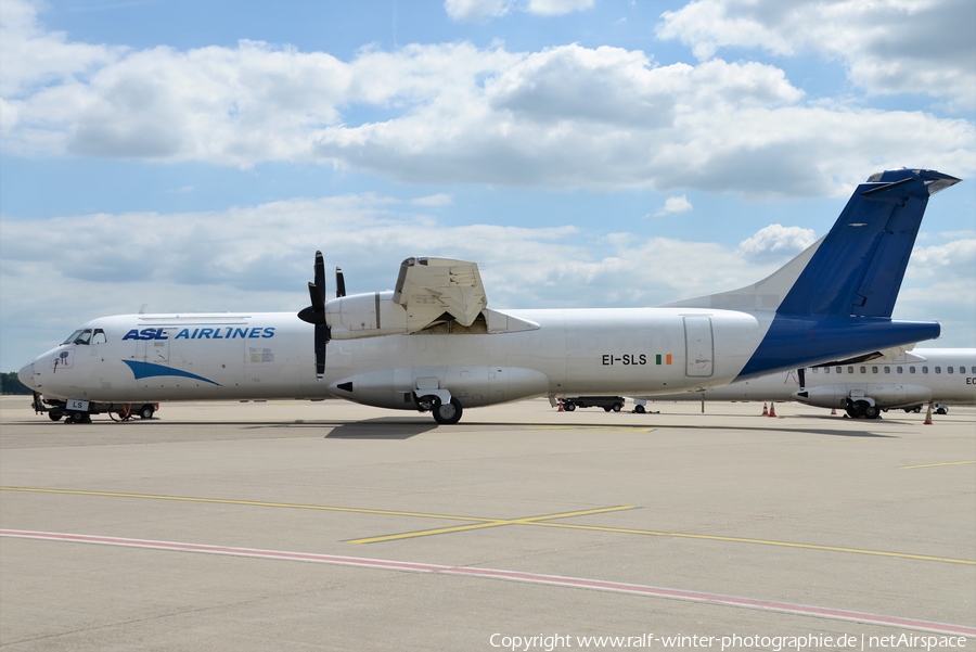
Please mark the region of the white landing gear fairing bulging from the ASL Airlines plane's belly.
POLYGON ((519 367, 403 367, 346 378, 329 391, 377 408, 414 410, 416 399, 427 395, 475 408, 545 395, 549 378, 519 367))

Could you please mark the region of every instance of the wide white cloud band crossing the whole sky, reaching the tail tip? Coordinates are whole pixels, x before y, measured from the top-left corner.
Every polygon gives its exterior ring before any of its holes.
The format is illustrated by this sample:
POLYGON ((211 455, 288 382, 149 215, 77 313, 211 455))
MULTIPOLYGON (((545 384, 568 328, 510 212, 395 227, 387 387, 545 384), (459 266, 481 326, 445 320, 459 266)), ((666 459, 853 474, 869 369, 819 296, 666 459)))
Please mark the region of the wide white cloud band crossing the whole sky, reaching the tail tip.
POLYGON ((471 43, 367 49, 345 62, 242 41, 101 49, 79 55, 84 74, 59 64, 52 78, 23 52, 64 62, 77 43, 25 15, 0 35, 27 43, 4 53, 2 69, 17 76, 17 92, 0 100, 0 144, 14 155, 311 162, 403 181, 753 195, 843 195, 891 167, 976 171, 971 122, 805 104, 782 69, 760 63, 660 66, 621 48, 471 43), (360 108, 388 117, 362 119, 360 108))

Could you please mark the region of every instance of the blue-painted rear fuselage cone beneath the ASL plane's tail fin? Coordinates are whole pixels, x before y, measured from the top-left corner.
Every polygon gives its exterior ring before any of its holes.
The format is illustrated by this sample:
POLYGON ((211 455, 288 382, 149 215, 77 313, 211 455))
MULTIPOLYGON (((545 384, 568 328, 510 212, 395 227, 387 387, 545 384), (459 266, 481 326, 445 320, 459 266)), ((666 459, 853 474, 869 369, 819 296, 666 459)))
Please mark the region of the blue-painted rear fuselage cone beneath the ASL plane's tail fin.
POLYGON ((838 315, 776 315, 756 353, 735 379, 794 369, 938 337, 932 321, 891 321, 838 315), (807 360, 798 365, 798 360, 807 360))

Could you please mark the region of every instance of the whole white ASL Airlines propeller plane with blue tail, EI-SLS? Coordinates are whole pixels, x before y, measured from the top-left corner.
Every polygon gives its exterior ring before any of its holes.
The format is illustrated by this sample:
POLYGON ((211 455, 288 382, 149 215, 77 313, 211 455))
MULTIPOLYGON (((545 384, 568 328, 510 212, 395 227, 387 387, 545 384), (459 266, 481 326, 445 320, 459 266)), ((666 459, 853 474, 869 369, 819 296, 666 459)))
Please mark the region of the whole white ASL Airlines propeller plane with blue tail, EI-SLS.
POLYGON ((404 260, 393 291, 348 296, 337 268, 326 299, 317 252, 297 315, 102 317, 18 378, 50 417, 75 422, 151 401, 339 397, 453 424, 467 408, 539 396, 703 391, 938 337, 937 322, 891 309, 929 197, 959 181, 872 175, 826 235, 768 278, 653 308, 496 310, 476 264, 431 257, 404 260))

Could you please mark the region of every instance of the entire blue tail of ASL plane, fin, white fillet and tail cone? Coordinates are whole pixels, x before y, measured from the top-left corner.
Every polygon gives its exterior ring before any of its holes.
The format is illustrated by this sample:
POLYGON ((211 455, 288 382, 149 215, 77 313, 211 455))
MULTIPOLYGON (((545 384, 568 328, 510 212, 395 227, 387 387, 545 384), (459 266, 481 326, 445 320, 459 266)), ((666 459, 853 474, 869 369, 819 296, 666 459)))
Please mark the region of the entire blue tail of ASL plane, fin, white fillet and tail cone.
POLYGON ((747 310, 767 324, 739 374, 748 379, 938 337, 936 322, 891 321, 928 197, 959 183, 935 170, 889 170, 858 186, 830 233, 740 290, 667 304, 747 310))

